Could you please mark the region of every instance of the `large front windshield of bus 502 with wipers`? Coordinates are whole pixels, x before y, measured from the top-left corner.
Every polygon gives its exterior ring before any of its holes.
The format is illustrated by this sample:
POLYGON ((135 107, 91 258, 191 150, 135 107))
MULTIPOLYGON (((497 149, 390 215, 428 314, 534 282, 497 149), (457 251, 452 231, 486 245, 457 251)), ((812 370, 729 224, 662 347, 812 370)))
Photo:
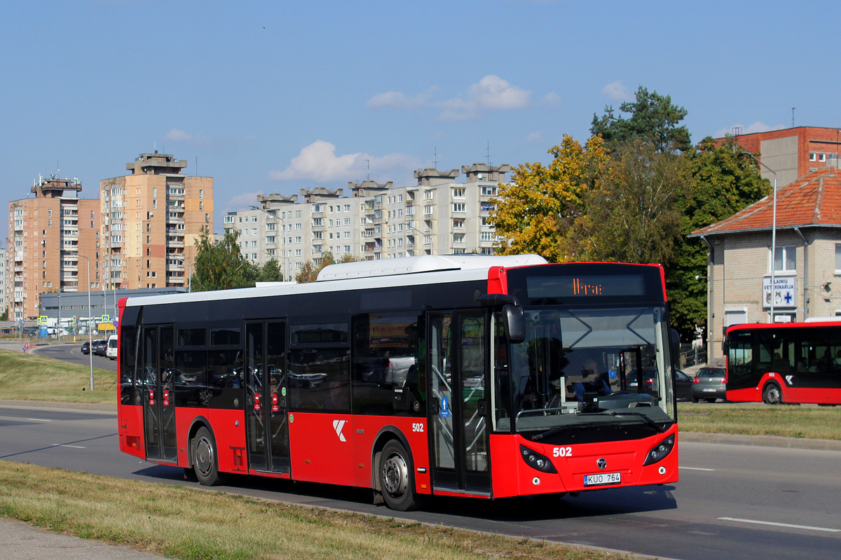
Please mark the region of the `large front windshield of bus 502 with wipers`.
MULTIPOLYGON (((526 340, 508 347, 516 432, 674 421, 662 306, 536 307, 525 318, 526 340)), ((497 429, 509 429, 507 420, 498 418, 497 429)))

